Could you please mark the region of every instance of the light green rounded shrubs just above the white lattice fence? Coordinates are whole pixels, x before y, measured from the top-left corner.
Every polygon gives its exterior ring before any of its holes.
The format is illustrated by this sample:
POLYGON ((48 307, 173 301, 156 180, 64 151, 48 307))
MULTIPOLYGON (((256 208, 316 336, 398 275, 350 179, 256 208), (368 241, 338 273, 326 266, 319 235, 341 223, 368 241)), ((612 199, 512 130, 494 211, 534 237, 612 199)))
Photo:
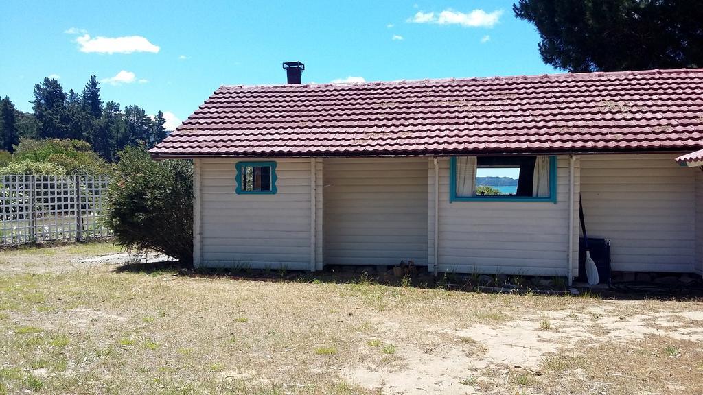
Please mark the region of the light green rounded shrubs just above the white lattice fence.
POLYGON ((80 140, 22 140, 13 162, 51 162, 68 174, 111 174, 112 165, 94 153, 91 145, 80 140))

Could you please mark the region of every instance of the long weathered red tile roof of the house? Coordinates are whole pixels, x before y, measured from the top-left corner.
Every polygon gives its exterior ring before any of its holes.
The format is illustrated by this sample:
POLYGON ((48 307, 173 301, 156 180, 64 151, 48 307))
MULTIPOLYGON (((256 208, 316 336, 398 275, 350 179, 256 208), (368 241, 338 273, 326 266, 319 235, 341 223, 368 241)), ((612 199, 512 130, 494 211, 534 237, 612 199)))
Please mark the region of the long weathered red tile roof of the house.
POLYGON ((157 157, 703 147, 703 69, 221 86, 157 157))

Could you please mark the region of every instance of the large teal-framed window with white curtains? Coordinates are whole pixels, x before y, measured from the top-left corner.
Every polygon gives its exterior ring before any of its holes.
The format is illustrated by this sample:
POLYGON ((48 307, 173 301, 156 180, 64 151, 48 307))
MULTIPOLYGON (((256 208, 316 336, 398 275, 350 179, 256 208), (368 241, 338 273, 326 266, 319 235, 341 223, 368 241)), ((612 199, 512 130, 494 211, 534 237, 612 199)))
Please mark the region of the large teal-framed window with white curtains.
POLYGON ((553 156, 452 157, 450 201, 556 202, 553 156))

